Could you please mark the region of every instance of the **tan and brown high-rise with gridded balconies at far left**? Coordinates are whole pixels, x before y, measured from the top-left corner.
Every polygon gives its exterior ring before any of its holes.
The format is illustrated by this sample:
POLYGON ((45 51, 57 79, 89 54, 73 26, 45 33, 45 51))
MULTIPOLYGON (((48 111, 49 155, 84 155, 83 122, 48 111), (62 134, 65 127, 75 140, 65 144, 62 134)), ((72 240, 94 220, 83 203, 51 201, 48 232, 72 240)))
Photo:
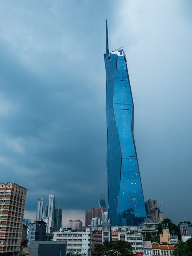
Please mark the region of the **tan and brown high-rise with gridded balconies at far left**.
POLYGON ((0 254, 19 255, 27 189, 0 183, 0 254))

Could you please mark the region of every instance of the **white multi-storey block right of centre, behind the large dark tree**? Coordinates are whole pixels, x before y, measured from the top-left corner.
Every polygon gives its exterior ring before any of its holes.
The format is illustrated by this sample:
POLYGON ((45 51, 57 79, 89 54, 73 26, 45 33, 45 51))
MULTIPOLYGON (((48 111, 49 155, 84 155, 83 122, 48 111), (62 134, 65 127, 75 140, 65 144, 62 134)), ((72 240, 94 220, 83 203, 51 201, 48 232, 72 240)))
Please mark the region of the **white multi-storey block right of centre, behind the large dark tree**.
POLYGON ((119 233, 119 240, 126 241, 131 244, 133 253, 143 252, 143 237, 142 234, 127 234, 119 233))

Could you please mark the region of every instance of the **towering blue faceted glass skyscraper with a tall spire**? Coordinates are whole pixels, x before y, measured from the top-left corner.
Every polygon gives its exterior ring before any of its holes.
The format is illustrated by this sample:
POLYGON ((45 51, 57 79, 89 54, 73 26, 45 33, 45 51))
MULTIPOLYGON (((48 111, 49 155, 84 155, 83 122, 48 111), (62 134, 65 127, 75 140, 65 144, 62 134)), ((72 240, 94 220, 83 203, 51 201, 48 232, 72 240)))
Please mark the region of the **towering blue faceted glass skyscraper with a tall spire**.
POLYGON ((108 217, 112 226, 137 225, 146 218, 136 146, 134 105, 123 49, 109 53, 106 23, 106 117, 108 217))

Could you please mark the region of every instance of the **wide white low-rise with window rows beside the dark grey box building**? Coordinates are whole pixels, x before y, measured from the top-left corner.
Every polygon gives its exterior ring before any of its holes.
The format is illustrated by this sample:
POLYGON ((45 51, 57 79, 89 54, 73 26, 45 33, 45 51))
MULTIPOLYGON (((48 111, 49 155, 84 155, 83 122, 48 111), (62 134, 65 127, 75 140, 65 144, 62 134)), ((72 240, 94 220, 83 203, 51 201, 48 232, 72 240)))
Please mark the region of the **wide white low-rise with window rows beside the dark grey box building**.
POLYGON ((56 231, 53 232, 53 241, 66 241, 67 253, 85 253, 91 256, 92 253, 92 232, 86 228, 86 231, 56 231))

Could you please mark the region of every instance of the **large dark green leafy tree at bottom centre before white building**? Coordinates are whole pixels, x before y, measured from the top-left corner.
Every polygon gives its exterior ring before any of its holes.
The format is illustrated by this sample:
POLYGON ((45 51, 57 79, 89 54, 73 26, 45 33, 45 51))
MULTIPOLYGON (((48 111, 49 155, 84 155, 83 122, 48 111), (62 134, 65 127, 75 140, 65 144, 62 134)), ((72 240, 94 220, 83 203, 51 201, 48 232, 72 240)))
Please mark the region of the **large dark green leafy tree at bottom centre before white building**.
POLYGON ((132 255, 131 245, 126 241, 105 241, 103 244, 96 246, 96 251, 99 256, 129 256, 132 255))

